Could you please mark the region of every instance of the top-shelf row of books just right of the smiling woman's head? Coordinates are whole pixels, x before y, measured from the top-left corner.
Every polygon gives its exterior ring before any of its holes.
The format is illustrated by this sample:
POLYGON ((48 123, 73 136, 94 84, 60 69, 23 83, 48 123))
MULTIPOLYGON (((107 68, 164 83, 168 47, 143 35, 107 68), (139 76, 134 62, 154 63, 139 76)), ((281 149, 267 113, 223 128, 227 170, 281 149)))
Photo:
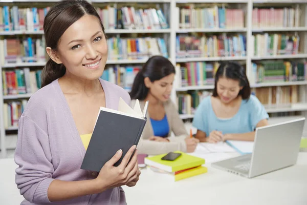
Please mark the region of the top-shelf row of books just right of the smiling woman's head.
POLYGON ((167 20, 162 9, 135 7, 97 8, 105 29, 167 29, 167 20))

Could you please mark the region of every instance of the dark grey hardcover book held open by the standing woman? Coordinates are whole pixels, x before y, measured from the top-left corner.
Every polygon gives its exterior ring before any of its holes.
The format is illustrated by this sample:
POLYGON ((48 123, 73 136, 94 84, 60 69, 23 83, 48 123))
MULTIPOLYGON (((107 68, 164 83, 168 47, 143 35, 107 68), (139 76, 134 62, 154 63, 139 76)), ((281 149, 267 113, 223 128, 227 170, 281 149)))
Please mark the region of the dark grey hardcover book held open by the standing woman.
POLYGON ((100 107, 81 169, 99 172, 122 149, 122 157, 114 165, 118 166, 127 151, 133 145, 138 145, 147 121, 147 108, 148 101, 142 112, 139 100, 136 100, 132 109, 122 98, 119 99, 118 110, 100 107))

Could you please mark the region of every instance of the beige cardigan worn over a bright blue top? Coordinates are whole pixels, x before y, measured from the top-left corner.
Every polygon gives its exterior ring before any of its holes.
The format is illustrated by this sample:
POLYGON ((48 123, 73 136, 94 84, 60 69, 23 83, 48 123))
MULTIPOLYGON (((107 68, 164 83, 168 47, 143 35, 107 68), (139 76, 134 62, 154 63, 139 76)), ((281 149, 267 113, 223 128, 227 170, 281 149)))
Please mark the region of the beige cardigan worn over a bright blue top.
MULTIPOLYGON (((139 102, 141 110, 143 110, 145 106, 145 101, 140 100, 139 102)), ((135 103, 136 100, 131 100, 130 106, 133 108, 135 103)), ((153 136, 153 130, 150 122, 150 116, 147 112, 147 122, 137 148, 139 154, 142 153, 148 155, 157 155, 177 150, 183 152, 187 151, 184 139, 188 136, 188 133, 185 129, 182 119, 179 116, 176 106, 172 103, 171 100, 166 101, 163 105, 169 126, 169 132, 167 137, 169 142, 148 140, 149 137, 153 136), (175 136, 170 137, 171 132, 173 132, 175 136)))

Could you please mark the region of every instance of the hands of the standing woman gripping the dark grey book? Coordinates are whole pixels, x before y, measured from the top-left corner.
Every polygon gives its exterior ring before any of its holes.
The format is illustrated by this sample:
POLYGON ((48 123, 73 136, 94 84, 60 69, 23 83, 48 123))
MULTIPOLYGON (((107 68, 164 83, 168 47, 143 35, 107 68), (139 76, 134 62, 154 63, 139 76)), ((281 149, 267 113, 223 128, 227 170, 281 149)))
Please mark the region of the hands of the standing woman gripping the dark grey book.
POLYGON ((132 146, 128 150, 118 167, 114 167, 114 164, 122 156, 121 150, 117 151, 117 153, 101 168, 99 175, 95 179, 97 184, 99 186, 101 185, 101 192, 106 189, 120 187, 123 185, 135 186, 140 175, 137 150, 129 161, 135 149, 136 146, 132 146))

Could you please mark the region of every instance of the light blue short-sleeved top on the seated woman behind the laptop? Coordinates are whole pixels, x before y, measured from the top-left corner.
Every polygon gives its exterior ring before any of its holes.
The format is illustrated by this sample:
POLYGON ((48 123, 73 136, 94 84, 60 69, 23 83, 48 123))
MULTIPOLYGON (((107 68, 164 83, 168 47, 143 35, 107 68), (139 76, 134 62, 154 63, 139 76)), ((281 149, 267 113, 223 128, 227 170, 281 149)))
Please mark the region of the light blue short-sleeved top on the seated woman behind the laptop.
POLYGON ((262 119, 269 119, 269 115, 254 95, 250 95, 248 100, 242 100, 238 112, 227 119, 216 117, 211 96, 208 96, 196 109, 192 125, 205 132, 207 136, 213 130, 222 131, 223 134, 246 133, 254 131, 262 119))

